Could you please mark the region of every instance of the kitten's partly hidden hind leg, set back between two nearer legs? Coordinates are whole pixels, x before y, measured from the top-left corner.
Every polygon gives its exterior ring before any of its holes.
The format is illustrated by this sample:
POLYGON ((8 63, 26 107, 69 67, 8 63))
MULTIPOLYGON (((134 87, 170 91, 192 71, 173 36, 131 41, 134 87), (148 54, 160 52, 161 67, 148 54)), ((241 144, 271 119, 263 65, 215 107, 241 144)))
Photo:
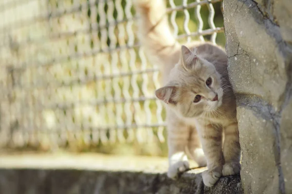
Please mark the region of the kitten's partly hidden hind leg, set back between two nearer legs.
POLYGON ((203 167, 207 165, 206 157, 201 146, 201 140, 195 127, 190 127, 187 149, 189 151, 190 157, 195 162, 197 162, 198 167, 203 167))

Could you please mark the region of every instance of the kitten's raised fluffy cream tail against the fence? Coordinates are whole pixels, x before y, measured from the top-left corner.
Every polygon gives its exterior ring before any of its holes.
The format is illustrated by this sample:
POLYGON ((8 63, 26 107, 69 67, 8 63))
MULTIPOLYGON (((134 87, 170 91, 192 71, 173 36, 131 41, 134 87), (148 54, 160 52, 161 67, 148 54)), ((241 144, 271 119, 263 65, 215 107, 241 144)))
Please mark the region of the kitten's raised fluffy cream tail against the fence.
POLYGON ((140 19, 138 36, 148 58, 151 63, 169 64, 180 45, 170 31, 164 0, 134 0, 134 5, 140 19))

